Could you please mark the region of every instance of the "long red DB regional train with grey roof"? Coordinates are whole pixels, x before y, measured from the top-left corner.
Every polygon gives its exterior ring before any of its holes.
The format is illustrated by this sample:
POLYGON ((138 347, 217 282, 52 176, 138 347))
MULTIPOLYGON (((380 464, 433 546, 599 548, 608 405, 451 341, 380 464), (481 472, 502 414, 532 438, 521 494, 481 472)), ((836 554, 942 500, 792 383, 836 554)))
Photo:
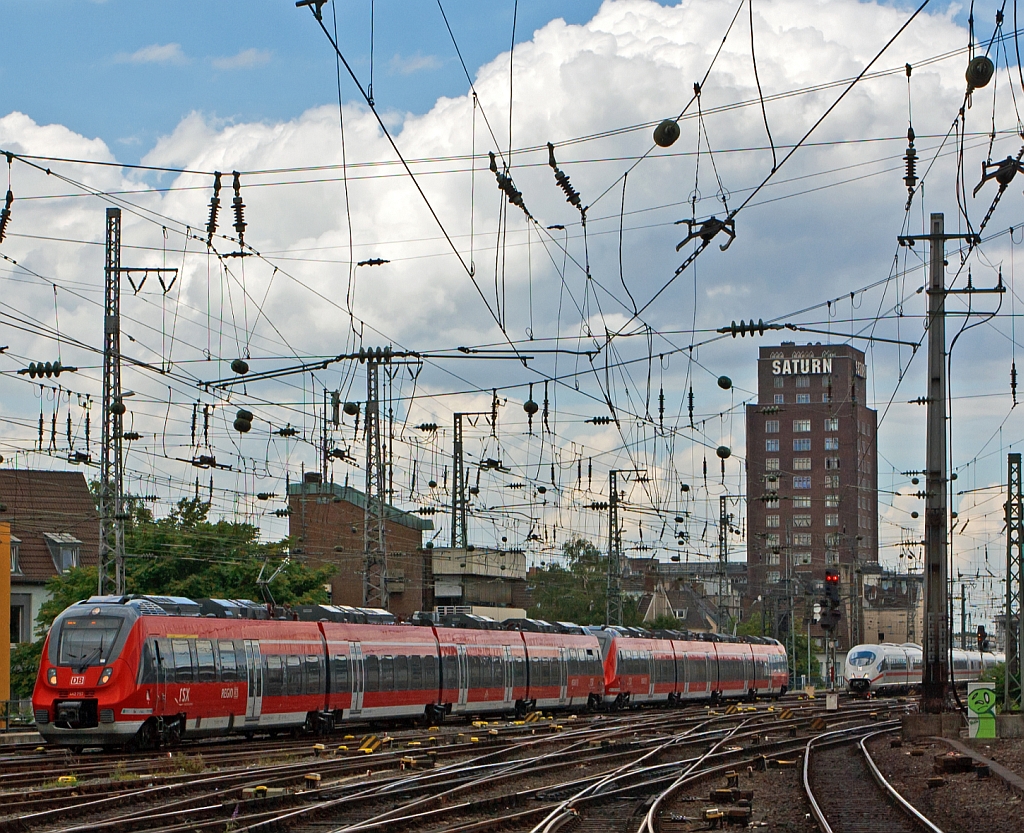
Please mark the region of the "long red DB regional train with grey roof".
POLYGON ((269 619, 245 600, 93 596, 50 627, 33 708, 50 743, 145 748, 358 720, 777 697, 786 667, 773 639, 464 615, 396 624, 331 606, 269 619))

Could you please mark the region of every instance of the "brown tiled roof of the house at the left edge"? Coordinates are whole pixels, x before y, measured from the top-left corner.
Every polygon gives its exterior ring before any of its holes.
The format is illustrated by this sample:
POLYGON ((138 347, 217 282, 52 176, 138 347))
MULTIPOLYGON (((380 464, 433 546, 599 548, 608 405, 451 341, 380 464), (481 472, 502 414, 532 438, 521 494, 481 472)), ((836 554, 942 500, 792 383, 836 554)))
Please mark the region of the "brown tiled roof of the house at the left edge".
POLYGON ((22 572, 11 575, 12 584, 44 582, 56 575, 46 535, 81 541, 80 564, 96 564, 99 515, 81 471, 0 468, 0 520, 9 523, 20 541, 22 572))

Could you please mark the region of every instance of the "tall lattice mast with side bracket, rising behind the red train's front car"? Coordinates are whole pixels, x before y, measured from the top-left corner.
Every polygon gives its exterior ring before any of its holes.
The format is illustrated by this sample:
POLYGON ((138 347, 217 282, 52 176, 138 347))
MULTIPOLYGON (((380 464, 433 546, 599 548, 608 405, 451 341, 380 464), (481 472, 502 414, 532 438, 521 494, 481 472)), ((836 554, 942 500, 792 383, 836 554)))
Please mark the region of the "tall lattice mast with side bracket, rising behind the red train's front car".
MULTIPOLYGON (((125 591, 124 433, 125 408, 121 391, 121 273, 177 275, 176 268, 121 265, 121 209, 106 209, 103 265, 103 402, 99 454, 99 595, 125 591)), ((131 278, 129 278, 129 281, 131 278)))

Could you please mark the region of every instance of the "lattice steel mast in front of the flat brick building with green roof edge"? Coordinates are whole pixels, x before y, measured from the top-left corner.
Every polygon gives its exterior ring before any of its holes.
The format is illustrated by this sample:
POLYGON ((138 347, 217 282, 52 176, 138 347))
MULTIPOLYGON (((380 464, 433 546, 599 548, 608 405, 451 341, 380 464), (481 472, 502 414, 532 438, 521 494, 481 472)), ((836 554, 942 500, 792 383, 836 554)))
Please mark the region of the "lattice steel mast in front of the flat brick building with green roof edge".
POLYGON ((384 535, 387 495, 384 492, 384 444, 381 441, 380 366, 390 358, 368 356, 367 407, 364 435, 367 444, 366 505, 362 510, 362 603, 388 609, 387 542, 384 535))

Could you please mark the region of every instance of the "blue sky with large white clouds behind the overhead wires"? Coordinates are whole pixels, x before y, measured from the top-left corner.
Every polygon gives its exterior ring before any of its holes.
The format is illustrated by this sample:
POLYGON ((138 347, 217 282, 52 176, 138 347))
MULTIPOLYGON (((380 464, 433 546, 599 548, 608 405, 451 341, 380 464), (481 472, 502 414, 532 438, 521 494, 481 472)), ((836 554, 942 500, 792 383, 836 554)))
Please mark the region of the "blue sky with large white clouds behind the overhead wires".
MULTIPOLYGON (((568 536, 599 540, 602 516, 588 504, 609 468, 638 468, 649 480, 628 486, 631 552, 708 557, 718 496, 744 489, 742 404, 757 346, 773 343, 715 330, 755 318, 823 331, 790 336, 798 340, 853 335, 867 351, 886 490, 880 557, 910 563, 920 547, 900 544, 920 540, 911 512, 922 502, 890 493, 916 491, 900 472, 923 467, 924 409, 908 402, 926 392, 925 357, 891 342, 924 338, 925 254, 896 239, 921 234, 931 212, 945 214, 947 231, 977 230, 991 205, 995 182, 971 194, 982 163, 1021 147, 1012 14, 993 40, 998 4, 975 4, 975 48, 989 50, 997 74, 958 118, 970 38, 964 9, 947 3, 895 39, 915 4, 386 2, 373 5, 371 25, 372 5, 343 4, 337 18, 324 8, 346 68, 292 2, 0 0, 5 31, 16 33, 0 53, 0 151, 17 155, 0 244, 4 464, 98 458, 89 402, 100 389, 103 218, 119 206, 123 263, 179 270, 163 285, 151 275, 138 287, 134 276, 122 301, 124 351, 138 363, 125 371, 126 418, 141 434, 129 489, 157 496, 158 511, 194 494, 197 477, 208 494, 213 476, 217 512, 284 534, 272 512, 286 476, 319 466, 324 391, 364 400, 362 368, 203 383, 230 379, 240 357, 258 372, 390 344, 431 357, 385 374, 396 503, 447 502, 453 413, 489 412, 497 389, 498 428, 468 418, 467 455, 509 471, 481 472, 472 539, 506 539, 537 561, 568 536), (654 147, 654 125, 680 116, 676 143, 654 147), (907 208, 910 122, 927 175, 907 208), (586 225, 555 181, 548 142, 586 225), (488 153, 522 208, 499 190, 488 153), (214 171, 224 176, 208 247, 214 171), (246 257, 230 256, 240 251, 232 171, 246 257), (676 276, 694 248, 677 252, 686 236, 677 222, 741 205, 733 245, 710 246, 676 276), (356 265, 375 259, 387 262, 356 265), (58 355, 79 368, 59 385, 16 373, 58 355), (716 383, 722 375, 732 389, 716 383), (531 427, 530 385, 542 405, 531 427), (244 436, 231 429, 240 407, 256 414, 244 436), (617 426, 587 421, 612 410, 617 426), (415 427, 423 423, 440 429, 415 427), (288 425, 296 436, 275 433, 288 425), (733 453, 724 474, 719 445, 733 453), (201 454, 229 468, 199 469, 190 461, 201 454)), ((966 262, 952 245, 947 257, 950 283, 970 274, 992 286, 1001 272, 1011 290, 1001 303, 977 296, 970 310, 963 296, 950 301, 950 340, 969 328, 951 360, 951 464, 967 492, 953 545, 957 568, 982 576, 1002 572, 998 489, 1006 453, 1024 439, 1010 389, 1021 182, 1007 189, 983 245, 966 262)), ((346 417, 329 428, 339 451, 331 476, 361 487, 359 467, 340 459, 361 460, 356 426, 346 417)), ((443 542, 447 518, 434 517, 443 542)), ((997 591, 985 578, 970 592, 997 591)))

